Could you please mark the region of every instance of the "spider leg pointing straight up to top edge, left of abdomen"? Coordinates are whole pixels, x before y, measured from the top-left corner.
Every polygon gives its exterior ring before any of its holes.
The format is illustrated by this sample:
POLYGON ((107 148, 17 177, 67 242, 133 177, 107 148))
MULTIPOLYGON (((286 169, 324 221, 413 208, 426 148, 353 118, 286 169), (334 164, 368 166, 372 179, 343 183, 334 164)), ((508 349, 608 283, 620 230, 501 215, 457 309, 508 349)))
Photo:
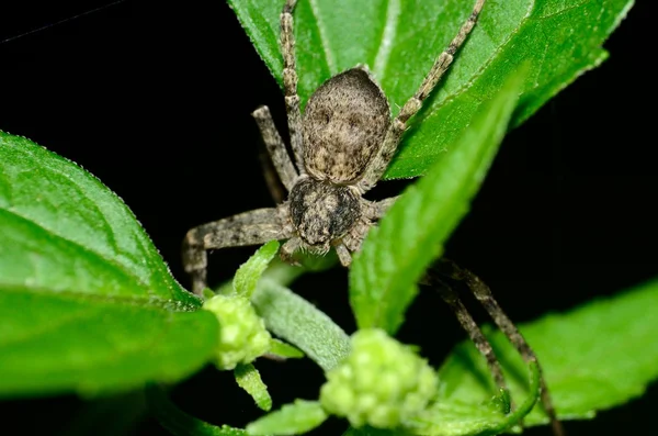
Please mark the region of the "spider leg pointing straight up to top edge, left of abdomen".
POLYGON ((304 172, 302 141, 302 112, 297 96, 297 71, 295 70, 295 35, 293 32, 293 10, 297 0, 285 0, 281 12, 281 53, 283 54, 283 89, 291 134, 291 146, 299 172, 304 172))

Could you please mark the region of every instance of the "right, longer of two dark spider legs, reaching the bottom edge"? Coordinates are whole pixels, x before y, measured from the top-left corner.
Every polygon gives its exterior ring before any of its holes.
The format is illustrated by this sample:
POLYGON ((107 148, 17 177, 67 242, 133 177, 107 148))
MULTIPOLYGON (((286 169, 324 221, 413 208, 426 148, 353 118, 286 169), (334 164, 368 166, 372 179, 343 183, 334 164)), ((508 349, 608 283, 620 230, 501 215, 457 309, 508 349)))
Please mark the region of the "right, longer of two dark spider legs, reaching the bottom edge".
POLYGON ((481 281, 479 277, 477 277, 476 275, 474 275, 465 268, 461 268, 451 260, 441 259, 441 266, 446 267, 445 269, 447 270, 447 277, 454 280, 464 281, 466 283, 466 286, 470 289, 475 298, 485 308, 489 316, 491 316, 498 328, 500 328, 500 331, 510 339, 514 348, 517 348, 517 350, 521 354, 523 360, 525 360, 526 362, 534 361, 535 364, 537 364, 537 368, 540 368, 541 373, 540 385, 542 405, 544 406, 544 411, 551 420, 553 434, 555 436, 564 436, 565 431, 555 413, 555 407, 553 406, 551 393, 548 392, 548 387, 546 385, 546 380, 544 379, 542 367, 537 360, 537 356, 534 354, 530 345, 525 342, 525 338, 523 337, 523 335, 521 335, 521 332, 519 332, 514 323, 512 323, 512 320, 509 318, 509 316, 504 313, 502 308, 500 308, 496 299, 494 299, 489 287, 484 281, 481 281))

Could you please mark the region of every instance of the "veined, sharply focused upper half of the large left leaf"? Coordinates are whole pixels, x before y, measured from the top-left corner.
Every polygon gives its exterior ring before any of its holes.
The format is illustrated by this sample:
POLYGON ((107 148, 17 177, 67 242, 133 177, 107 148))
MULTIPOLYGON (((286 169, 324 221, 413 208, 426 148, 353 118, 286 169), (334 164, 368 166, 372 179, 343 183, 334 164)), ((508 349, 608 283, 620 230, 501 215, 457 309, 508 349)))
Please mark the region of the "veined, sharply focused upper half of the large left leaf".
POLYGON ((0 161, 0 287, 201 306, 171 277, 135 215, 95 177, 3 132, 0 161))

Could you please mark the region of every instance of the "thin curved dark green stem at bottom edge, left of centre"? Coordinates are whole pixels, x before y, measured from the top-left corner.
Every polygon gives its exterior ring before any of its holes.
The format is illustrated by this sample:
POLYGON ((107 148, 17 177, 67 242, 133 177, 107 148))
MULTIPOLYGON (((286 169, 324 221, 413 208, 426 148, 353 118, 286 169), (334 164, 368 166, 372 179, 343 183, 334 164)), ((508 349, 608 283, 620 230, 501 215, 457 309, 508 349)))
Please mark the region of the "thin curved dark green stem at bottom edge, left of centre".
POLYGON ((159 385, 149 385, 146 389, 146 400, 149 410, 160 425, 175 436, 243 436, 241 428, 208 424, 188 415, 173 404, 164 390, 159 385))

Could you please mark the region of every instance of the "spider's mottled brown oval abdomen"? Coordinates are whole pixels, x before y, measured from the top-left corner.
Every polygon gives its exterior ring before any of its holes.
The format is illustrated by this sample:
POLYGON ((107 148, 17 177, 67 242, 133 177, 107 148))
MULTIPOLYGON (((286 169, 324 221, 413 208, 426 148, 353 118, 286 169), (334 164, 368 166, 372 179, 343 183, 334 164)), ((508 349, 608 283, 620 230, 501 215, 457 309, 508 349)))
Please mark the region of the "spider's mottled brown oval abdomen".
POLYGON ((356 181, 390 124, 382 89, 361 68, 332 77, 310 96, 304 112, 304 166, 318 180, 356 181))

